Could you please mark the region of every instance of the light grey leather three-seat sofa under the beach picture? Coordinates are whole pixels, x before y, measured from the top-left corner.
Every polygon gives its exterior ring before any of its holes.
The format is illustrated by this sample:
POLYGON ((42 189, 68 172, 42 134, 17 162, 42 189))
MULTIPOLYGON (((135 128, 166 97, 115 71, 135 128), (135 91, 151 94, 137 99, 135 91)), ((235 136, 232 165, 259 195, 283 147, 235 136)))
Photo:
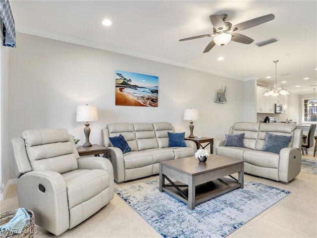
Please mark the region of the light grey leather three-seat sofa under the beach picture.
POLYGON ((102 129, 102 137, 114 180, 122 182, 156 175, 160 161, 194 156, 197 147, 193 141, 185 140, 186 147, 168 147, 168 132, 175 132, 169 122, 107 124, 102 129), (110 143, 109 137, 119 134, 127 141, 130 152, 123 154, 110 143))

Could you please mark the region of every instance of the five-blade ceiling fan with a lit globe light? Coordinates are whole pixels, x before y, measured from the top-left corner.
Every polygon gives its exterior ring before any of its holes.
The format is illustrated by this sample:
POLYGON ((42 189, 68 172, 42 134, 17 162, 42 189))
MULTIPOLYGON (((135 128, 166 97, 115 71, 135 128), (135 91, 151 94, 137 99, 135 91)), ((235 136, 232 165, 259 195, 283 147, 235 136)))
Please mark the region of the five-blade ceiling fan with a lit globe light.
POLYGON ((243 44, 251 44, 254 40, 250 37, 247 37, 245 35, 235 33, 236 31, 242 31, 260 24, 263 24, 264 22, 270 21, 274 19, 274 14, 268 14, 264 16, 260 16, 257 18, 253 18, 248 21, 241 22, 237 25, 232 26, 230 22, 225 22, 227 18, 227 14, 220 14, 220 15, 210 15, 211 24, 213 25, 213 32, 206 35, 201 36, 193 36, 188 37, 184 39, 180 39, 179 41, 187 41, 187 40, 193 40, 203 37, 211 37, 213 36, 213 40, 208 44, 206 49, 204 50, 204 53, 207 53, 211 50, 212 47, 215 45, 218 46, 224 46, 228 44, 230 41, 235 41, 238 43, 243 44))

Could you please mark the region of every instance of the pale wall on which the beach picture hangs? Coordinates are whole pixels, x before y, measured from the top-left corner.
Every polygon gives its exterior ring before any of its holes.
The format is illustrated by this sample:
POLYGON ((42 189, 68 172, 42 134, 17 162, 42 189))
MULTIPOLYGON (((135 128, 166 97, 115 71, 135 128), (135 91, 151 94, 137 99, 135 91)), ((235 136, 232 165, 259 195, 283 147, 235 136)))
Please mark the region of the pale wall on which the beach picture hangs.
MULTIPOLYGON (((190 56, 189 56, 190 57, 190 56)), ((230 125, 243 121, 242 81, 151 60, 17 33, 9 54, 8 139, 23 130, 66 128, 85 142, 84 123, 76 122, 78 105, 95 105, 90 142, 102 144, 101 129, 111 122, 169 121, 189 135, 186 108, 197 108, 194 135, 224 139, 230 125), (115 70, 159 76, 159 106, 115 106, 115 70), (227 85, 228 103, 214 103, 227 85)), ((8 148, 5 148, 8 150, 8 148)), ((15 178, 8 158, 10 179, 15 178)))

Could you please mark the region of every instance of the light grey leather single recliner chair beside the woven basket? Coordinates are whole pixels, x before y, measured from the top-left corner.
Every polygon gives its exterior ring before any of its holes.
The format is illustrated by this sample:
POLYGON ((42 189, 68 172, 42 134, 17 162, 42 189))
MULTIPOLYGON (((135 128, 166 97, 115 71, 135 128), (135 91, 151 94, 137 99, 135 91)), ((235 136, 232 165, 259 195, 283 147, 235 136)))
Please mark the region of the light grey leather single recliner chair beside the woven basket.
POLYGON ((79 157, 66 129, 23 131, 10 140, 19 207, 58 236, 101 208, 114 194, 113 168, 103 157, 79 157))

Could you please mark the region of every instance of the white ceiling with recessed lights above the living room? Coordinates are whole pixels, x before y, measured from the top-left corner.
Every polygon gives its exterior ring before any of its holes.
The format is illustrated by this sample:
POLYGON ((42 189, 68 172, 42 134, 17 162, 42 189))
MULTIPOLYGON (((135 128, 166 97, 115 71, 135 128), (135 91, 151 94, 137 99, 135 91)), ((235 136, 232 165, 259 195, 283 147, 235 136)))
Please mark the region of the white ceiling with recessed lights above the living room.
POLYGON ((279 60, 278 84, 287 81, 283 85, 296 94, 314 93, 317 87, 316 0, 10 0, 10 5, 18 32, 238 80, 259 78, 263 85, 275 82, 273 60, 279 60), (232 25, 270 13, 275 19, 239 32, 254 39, 250 45, 230 42, 203 53, 211 37, 178 41, 212 33, 209 16, 221 13, 232 25), (101 24, 105 18, 111 26, 101 24), (279 41, 255 45, 272 37, 279 41), (220 56, 224 60, 217 60, 220 56), (272 78, 265 79, 268 75, 272 78))

